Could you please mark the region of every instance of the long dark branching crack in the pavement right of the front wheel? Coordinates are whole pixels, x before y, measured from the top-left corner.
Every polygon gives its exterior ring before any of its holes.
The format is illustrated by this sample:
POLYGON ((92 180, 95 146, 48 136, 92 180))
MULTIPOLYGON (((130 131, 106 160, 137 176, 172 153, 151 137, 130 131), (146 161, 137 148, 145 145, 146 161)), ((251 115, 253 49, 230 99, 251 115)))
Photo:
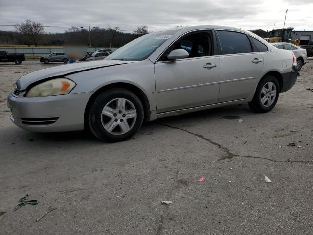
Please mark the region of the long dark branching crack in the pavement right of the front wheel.
POLYGON ((183 129, 183 128, 180 128, 180 127, 176 127, 176 126, 170 126, 170 125, 166 125, 166 124, 163 124, 163 123, 157 123, 161 126, 166 126, 166 127, 169 127, 169 128, 172 128, 172 129, 177 129, 177 130, 181 130, 181 131, 184 131, 184 132, 187 132, 191 135, 194 135, 196 137, 199 137, 205 141, 208 141, 209 143, 211 143, 212 145, 222 149, 224 151, 224 156, 222 156, 220 159, 218 159, 217 161, 222 161, 222 160, 225 160, 225 159, 232 159, 233 157, 244 157, 244 158, 255 158, 255 159, 264 159, 264 160, 268 160, 268 161, 271 161, 271 162, 275 162, 275 163, 279 163, 279 162, 289 162, 289 163, 295 163, 295 162, 299 162, 299 163, 313 163, 313 161, 302 161, 302 160, 275 160, 275 159, 272 159, 272 158, 265 158, 265 157, 255 157, 255 156, 251 156, 251 155, 239 155, 239 154, 235 154, 235 153, 232 153, 228 148, 222 146, 221 144, 217 143, 217 142, 214 142, 214 141, 211 141, 210 139, 200 135, 200 134, 197 134, 197 133, 193 133, 191 131, 188 131, 186 129, 183 129))

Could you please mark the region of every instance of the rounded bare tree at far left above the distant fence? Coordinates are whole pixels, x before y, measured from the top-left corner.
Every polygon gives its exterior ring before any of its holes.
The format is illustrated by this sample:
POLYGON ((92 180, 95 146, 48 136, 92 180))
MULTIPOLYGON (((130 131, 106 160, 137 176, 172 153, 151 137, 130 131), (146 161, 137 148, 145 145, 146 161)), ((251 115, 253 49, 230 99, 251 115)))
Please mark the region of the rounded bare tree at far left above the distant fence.
POLYGON ((26 39, 37 47, 39 40, 44 35, 44 26, 40 22, 25 20, 21 24, 15 24, 15 28, 22 33, 26 39))

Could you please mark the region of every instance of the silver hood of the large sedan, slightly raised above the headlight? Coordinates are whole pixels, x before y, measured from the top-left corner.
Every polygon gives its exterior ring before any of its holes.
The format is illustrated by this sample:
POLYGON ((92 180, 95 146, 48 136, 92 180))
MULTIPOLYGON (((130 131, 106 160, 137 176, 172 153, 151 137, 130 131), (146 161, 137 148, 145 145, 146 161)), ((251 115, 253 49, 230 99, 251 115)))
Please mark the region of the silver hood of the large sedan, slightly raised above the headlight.
POLYGON ((97 68, 115 66, 133 63, 134 61, 120 61, 120 60, 98 60, 81 63, 71 63, 67 65, 55 66, 43 70, 34 71, 22 76, 17 82, 16 86, 20 90, 25 90, 29 85, 37 83, 41 80, 49 78, 66 76, 80 71, 93 70, 97 68))

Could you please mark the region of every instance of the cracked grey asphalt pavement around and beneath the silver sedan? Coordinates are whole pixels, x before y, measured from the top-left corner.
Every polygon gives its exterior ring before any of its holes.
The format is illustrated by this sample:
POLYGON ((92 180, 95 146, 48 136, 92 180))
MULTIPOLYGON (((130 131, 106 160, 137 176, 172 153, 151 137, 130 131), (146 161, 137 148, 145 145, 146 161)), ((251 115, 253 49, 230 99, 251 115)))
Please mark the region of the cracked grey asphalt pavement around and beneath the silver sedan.
POLYGON ((11 123, 15 81, 58 65, 0 64, 0 235, 313 234, 312 60, 269 113, 162 118, 113 144, 11 123), (39 203, 13 212, 26 194, 39 203))

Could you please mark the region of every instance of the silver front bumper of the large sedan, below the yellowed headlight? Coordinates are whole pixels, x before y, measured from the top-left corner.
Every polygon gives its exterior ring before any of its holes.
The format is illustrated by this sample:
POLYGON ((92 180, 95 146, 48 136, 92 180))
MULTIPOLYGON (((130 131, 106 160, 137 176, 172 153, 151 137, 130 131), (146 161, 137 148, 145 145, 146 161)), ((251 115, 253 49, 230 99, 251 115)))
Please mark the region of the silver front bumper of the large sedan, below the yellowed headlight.
POLYGON ((7 106, 11 121, 32 132, 63 132, 84 129, 84 113, 90 92, 48 97, 10 94, 7 106))

